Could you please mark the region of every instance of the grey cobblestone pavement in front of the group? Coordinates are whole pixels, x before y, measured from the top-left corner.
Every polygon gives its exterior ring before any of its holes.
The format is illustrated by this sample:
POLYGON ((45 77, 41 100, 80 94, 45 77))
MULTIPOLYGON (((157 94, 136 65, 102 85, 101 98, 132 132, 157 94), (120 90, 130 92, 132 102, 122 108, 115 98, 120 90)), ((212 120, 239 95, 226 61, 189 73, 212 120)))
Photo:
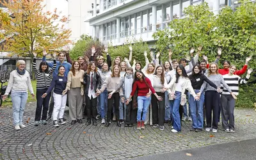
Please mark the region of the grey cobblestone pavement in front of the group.
POLYGON ((49 122, 35 127, 35 102, 27 104, 24 113, 27 127, 20 131, 15 131, 12 125, 12 108, 0 108, 0 117, 0 159, 132 159, 256 138, 253 109, 236 109, 235 133, 219 129, 216 134, 191 132, 191 122, 182 122, 182 132, 176 134, 167 124, 164 131, 148 125, 141 131, 124 124, 117 127, 116 123, 104 127, 100 121, 97 126, 70 125, 68 112, 65 125, 55 128, 49 122))

